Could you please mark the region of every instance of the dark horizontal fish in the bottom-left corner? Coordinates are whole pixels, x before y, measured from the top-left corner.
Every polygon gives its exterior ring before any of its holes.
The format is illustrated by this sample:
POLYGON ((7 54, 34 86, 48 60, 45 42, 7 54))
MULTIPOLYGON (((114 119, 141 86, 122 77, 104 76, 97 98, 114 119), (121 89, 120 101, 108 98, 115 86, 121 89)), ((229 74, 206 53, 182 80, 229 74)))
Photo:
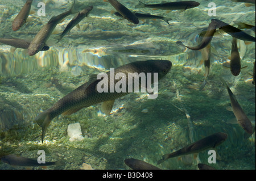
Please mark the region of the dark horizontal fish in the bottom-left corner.
POLYGON ((24 167, 63 165, 63 159, 60 159, 59 161, 56 162, 38 163, 37 159, 26 158, 15 154, 1 154, 0 160, 3 163, 7 163, 12 166, 24 167))

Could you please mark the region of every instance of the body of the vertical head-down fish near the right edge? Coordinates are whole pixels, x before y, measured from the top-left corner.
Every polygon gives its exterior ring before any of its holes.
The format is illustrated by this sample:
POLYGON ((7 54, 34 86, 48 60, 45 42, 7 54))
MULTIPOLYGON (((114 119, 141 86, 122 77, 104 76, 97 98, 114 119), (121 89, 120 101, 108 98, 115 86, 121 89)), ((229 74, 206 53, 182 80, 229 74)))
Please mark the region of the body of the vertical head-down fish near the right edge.
POLYGON ((234 37, 232 39, 230 71, 234 76, 239 75, 241 71, 241 58, 237 48, 237 39, 234 37))

